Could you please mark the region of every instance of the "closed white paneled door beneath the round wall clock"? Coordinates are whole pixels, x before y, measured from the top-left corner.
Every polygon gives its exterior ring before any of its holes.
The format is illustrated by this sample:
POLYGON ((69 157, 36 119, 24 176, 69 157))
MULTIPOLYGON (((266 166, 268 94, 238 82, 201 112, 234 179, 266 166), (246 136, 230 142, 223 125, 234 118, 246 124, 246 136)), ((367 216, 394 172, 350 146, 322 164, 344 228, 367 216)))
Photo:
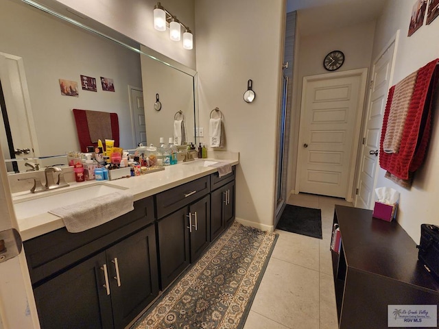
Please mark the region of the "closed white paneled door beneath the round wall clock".
POLYGON ((304 77, 296 191, 352 199, 367 69, 304 77))

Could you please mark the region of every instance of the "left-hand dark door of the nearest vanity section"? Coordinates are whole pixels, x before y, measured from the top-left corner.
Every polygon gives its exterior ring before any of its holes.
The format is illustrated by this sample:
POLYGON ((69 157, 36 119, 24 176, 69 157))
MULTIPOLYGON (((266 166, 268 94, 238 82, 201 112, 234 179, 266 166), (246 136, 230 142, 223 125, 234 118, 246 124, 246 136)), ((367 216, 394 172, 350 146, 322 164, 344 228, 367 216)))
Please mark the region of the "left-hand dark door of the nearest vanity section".
MULTIPOLYGON (((102 252, 34 289, 43 329, 112 328, 102 252)), ((108 272, 107 272, 108 273, 108 272)))

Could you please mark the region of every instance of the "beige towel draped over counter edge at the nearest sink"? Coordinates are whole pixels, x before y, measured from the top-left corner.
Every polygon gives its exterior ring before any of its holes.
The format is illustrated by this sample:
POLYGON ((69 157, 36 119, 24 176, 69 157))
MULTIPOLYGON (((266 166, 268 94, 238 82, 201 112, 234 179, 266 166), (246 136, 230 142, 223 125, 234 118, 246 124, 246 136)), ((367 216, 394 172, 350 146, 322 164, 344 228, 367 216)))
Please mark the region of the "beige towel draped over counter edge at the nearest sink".
POLYGON ((134 210, 132 194, 115 192, 49 212, 62 218, 67 231, 78 233, 102 225, 131 210, 134 210))

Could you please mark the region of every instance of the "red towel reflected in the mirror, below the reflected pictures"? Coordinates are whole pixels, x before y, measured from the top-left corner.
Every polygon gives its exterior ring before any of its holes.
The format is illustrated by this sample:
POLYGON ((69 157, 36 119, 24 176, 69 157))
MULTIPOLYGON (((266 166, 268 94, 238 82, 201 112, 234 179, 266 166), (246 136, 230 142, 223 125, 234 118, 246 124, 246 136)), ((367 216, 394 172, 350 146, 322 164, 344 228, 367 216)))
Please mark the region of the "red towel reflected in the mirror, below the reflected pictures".
MULTIPOLYGON (((82 152, 87 151, 87 146, 97 146, 97 143, 92 143, 90 138, 90 132, 88 131, 87 115, 85 110, 73 109, 73 115, 75 116, 76 131, 78 132, 78 140, 80 141, 80 147, 82 152)), ((119 118, 117 113, 110 113, 111 120, 111 133, 112 139, 115 140, 115 147, 119 147, 119 118)), ((104 143, 104 141, 102 141, 104 143)))

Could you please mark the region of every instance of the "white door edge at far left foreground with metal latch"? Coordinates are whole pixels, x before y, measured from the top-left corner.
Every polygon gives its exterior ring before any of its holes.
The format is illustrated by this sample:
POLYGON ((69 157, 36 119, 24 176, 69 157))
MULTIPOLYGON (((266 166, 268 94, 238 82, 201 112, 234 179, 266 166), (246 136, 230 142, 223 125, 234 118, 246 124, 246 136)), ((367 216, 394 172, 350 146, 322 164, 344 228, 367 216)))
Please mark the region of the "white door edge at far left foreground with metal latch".
MULTIPOLYGON (((0 143, 1 147, 1 143, 0 143)), ((0 240, 17 228, 3 154, 0 153, 0 240)), ((3 239, 3 242, 6 239, 3 239)), ((3 245, 3 243, 2 243, 3 245)), ((8 248, 8 245, 6 245, 8 248)), ((24 252, 2 261, 0 251, 0 328, 40 328, 24 252)))

